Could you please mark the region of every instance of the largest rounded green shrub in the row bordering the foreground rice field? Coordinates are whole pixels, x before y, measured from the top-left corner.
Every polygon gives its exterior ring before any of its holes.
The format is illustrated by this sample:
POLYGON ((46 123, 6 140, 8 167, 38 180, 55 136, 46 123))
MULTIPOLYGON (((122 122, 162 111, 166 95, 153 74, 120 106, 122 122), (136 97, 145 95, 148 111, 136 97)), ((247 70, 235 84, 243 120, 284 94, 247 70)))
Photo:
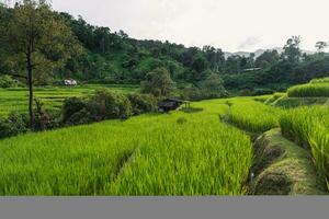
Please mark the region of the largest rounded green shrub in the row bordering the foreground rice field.
POLYGON ((121 94, 103 89, 97 91, 87 103, 87 110, 92 120, 127 118, 132 115, 129 100, 121 94))

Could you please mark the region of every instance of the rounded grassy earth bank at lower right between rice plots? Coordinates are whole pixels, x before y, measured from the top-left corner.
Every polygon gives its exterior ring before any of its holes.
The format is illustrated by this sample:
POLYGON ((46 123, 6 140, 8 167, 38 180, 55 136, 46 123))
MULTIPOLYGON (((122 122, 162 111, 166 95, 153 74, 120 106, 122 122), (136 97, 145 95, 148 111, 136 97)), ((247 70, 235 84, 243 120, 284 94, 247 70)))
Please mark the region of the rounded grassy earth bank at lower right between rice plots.
POLYGON ((280 129, 261 136, 254 145, 252 195, 325 195, 309 152, 282 137, 280 129))

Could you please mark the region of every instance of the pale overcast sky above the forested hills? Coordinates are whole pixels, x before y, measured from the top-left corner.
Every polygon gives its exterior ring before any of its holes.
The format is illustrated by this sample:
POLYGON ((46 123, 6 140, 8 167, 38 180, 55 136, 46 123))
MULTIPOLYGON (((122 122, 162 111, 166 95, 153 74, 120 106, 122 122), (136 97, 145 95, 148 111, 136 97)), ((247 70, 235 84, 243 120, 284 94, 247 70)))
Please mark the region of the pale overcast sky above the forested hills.
POLYGON ((139 39, 253 51, 300 35, 329 41, 328 0, 53 0, 53 8, 139 39))

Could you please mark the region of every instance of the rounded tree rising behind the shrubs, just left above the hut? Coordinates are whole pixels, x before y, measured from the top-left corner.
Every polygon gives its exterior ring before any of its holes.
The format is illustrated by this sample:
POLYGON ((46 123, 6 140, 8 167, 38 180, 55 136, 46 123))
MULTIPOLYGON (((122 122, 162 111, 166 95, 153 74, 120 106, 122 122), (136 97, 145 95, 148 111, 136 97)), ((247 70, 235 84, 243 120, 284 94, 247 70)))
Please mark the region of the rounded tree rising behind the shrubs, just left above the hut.
POLYGON ((169 96, 174 88, 170 73, 164 68, 158 68, 146 74, 146 80, 141 82, 141 92, 150 93, 155 96, 169 96))

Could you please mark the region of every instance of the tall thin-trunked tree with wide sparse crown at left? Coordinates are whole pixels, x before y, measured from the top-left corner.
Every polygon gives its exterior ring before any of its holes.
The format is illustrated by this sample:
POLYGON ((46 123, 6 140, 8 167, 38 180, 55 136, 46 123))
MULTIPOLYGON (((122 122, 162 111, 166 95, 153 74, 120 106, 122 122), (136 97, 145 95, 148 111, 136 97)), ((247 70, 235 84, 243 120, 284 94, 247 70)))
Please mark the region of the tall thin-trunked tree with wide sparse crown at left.
POLYGON ((16 3, 5 34, 9 50, 27 72, 30 125, 33 127, 34 73, 52 72, 64 66, 81 47, 44 0, 16 3))

